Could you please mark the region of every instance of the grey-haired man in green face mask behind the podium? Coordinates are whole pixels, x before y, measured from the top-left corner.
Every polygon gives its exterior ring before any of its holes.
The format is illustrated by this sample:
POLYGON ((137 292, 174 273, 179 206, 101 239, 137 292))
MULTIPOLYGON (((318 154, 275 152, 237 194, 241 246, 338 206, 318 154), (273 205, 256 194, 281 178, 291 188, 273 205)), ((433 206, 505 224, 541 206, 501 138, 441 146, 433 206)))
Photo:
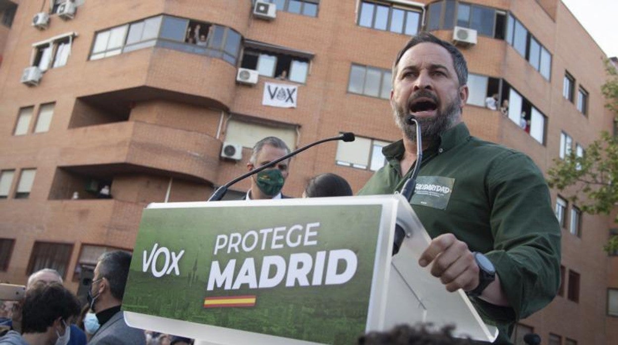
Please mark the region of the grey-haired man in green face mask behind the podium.
MULTIPOLYGON (((261 167, 273 160, 286 156, 290 152, 286 143, 275 137, 268 136, 253 146, 251 158, 247 163, 248 170, 261 167)), ((281 194, 286 182, 290 160, 282 160, 272 168, 262 170, 251 177, 251 188, 243 200, 281 199, 288 196, 281 194)))

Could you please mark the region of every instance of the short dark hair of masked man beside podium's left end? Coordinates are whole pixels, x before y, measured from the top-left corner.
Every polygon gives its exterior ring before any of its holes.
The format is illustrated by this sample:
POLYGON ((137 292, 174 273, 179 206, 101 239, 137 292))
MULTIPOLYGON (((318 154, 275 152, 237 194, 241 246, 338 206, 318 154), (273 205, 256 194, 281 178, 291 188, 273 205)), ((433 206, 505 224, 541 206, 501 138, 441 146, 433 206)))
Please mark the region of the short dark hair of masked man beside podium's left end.
POLYGON ((130 264, 131 254, 125 251, 105 252, 99 259, 99 278, 109 281, 109 292, 119 301, 124 297, 130 264))

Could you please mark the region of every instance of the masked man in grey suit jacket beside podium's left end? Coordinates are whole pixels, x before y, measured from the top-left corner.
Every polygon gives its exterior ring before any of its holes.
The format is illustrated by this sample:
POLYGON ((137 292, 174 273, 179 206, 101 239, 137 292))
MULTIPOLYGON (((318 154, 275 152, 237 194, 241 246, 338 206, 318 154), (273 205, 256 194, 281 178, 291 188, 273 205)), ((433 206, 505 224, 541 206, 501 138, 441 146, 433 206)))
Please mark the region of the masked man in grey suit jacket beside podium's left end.
POLYGON ((146 344, 144 331, 129 327, 120 310, 130 264, 124 251, 106 252, 96 264, 88 302, 101 327, 88 344, 146 344))

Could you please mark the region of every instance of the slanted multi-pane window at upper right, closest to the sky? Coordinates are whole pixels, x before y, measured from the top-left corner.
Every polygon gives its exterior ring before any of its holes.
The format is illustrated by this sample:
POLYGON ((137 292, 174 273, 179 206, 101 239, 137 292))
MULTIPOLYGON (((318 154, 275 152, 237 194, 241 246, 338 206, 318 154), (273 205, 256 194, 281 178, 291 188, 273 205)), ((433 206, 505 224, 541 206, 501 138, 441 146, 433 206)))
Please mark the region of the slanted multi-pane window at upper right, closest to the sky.
POLYGON ((551 54, 513 15, 506 22, 506 41, 546 79, 551 77, 551 54))

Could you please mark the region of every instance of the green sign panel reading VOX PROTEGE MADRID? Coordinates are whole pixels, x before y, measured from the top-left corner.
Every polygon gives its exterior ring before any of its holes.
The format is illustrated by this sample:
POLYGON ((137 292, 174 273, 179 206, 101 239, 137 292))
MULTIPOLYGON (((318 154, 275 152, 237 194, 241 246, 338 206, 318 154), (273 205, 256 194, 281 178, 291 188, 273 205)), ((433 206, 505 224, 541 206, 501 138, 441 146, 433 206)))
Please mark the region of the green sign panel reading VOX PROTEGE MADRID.
POLYGON ((144 210, 122 309, 355 343, 367 324, 381 205, 220 204, 144 210))

